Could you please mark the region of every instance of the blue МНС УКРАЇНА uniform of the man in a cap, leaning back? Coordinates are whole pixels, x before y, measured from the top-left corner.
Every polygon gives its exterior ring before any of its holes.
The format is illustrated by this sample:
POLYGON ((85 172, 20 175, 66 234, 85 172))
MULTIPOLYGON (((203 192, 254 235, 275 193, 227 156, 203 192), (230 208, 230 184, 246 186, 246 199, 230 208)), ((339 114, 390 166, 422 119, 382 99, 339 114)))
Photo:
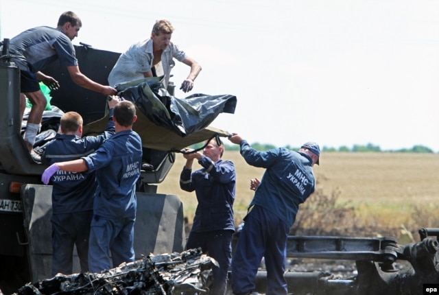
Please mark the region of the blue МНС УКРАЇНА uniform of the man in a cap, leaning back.
POLYGON ((241 155, 254 167, 266 168, 244 217, 232 263, 234 294, 250 294, 262 257, 267 268, 268 295, 287 294, 283 276, 289 228, 296 220, 299 204, 316 187, 311 157, 302 152, 278 148, 254 150, 247 141, 241 155))

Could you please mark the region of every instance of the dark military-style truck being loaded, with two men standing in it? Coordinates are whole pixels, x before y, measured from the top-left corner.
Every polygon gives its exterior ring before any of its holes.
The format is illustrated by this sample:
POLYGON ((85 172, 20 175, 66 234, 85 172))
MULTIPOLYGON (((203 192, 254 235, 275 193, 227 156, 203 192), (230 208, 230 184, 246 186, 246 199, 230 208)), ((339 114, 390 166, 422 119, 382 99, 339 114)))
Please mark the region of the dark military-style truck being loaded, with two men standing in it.
MULTIPOLYGON (((45 165, 33 161, 23 141, 25 120, 20 114, 20 72, 11 62, 8 39, 3 40, 0 56, 0 290, 15 292, 29 282, 47 279, 51 274, 51 185, 40 178, 45 165)), ((80 69, 88 78, 108 84, 107 78, 119 53, 75 45, 80 69)), ((34 150, 42 148, 56 134, 62 113, 76 111, 84 119, 84 135, 95 134, 106 115, 106 99, 72 82, 67 69, 54 62, 45 73, 60 82, 51 91, 52 110, 43 114, 34 150)), ((167 91, 174 95, 174 85, 167 91)), ((143 161, 149 169, 141 171, 137 184, 137 220, 134 226, 136 259, 141 255, 181 252, 185 246, 185 219, 178 196, 157 193, 174 164, 175 151, 227 132, 210 126, 185 137, 158 126, 137 110, 134 130, 141 134, 143 161), (139 123, 140 122, 140 123, 139 123), (142 136, 147 134, 146 136, 142 136)), ((73 271, 79 261, 74 254, 73 271)))

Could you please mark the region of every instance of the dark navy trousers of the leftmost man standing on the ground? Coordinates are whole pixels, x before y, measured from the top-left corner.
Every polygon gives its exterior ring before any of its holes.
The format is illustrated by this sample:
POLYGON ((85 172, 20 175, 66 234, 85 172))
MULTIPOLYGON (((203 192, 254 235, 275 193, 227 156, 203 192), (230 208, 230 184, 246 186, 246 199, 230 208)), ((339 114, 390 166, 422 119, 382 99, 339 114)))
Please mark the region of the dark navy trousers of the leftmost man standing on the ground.
POLYGON ((71 274, 73 247, 80 259, 81 272, 88 272, 88 237, 93 210, 54 214, 52 224, 52 276, 71 274))

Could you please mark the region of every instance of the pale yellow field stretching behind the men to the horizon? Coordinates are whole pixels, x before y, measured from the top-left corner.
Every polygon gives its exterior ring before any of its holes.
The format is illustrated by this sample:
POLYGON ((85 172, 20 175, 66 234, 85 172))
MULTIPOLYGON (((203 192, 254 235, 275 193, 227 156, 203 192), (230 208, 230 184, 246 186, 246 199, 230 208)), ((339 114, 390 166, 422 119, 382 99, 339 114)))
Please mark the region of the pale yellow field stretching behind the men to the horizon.
MULTIPOLYGON (((265 170, 247 165, 239 152, 226 151, 223 158, 236 166, 234 209, 235 220, 240 222, 252 198, 250 178, 261 179, 265 170)), ((191 221, 197 204, 195 193, 182 191, 178 184, 184 163, 182 155, 176 154, 176 163, 158 185, 158 193, 178 196, 184 204, 185 216, 191 221)), ((401 224, 412 225, 413 218, 427 220, 429 214, 437 215, 439 154, 331 152, 323 153, 320 163, 314 166, 317 188, 327 195, 336 193, 337 202, 355 207, 364 224, 397 228, 401 224)), ((199 169, 200 165, 195 162, 193 168, 199 169)))

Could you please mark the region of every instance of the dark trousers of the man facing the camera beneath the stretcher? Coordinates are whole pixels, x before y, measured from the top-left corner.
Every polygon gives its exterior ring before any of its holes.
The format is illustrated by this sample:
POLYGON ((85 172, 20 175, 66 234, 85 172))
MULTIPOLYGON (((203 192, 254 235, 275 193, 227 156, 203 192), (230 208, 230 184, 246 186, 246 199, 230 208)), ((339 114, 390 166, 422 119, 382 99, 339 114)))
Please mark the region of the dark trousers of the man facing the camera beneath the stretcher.
POLYGON ((227 274, 232 262, 233 231, 210 231, 189 233, 186 250, 201 248, 202 252, 215 259, 219 268, 213 267, 213 286, 210 295, 224 295, 227 287, 227 274))

